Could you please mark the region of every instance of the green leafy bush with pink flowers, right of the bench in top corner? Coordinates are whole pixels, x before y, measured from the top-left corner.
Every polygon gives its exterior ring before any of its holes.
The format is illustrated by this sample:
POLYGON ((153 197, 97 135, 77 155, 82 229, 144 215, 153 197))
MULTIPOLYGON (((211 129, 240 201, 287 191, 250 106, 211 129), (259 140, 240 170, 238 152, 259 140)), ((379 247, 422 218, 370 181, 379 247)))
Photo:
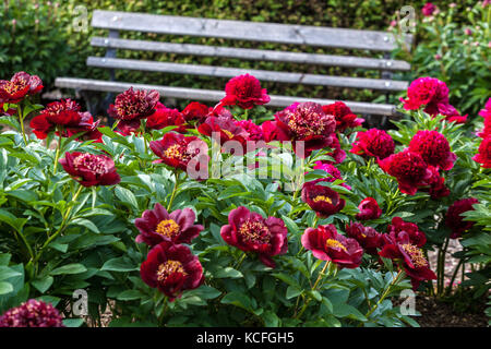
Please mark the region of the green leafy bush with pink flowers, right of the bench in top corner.
POLYGON ((491 97, 491 7, 483 8, 482 1, 439 7, 435 16, 417 22, 411 55, 399 51, 399 56, 412 62, 410 80, 432 76, 444 81, 451 104, 474 119, 491 97))

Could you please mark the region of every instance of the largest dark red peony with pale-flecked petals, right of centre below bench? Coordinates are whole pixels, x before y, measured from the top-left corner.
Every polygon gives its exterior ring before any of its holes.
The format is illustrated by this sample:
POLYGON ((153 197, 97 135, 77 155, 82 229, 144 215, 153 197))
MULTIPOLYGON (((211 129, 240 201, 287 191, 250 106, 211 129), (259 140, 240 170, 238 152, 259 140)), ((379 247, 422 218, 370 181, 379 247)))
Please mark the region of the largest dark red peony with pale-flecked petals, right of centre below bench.
POLYGON ((308 157, 312 151, 333 145, 331 135, 336 130, 336 119, 325 115, 316 103, 306 101, 287 107, 275 115, 275 141, 292 141, 299 157, 308 157), (298 141, 304 142, 303 152, 299 151, 298 141))

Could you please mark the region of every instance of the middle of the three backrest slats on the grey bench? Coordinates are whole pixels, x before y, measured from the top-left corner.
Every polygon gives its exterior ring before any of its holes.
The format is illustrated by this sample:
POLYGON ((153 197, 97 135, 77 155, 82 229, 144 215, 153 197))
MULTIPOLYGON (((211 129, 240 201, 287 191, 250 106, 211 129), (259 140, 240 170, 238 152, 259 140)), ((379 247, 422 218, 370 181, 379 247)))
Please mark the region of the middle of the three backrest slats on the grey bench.
POLYGON ((194 44, 158 43, 148 40, 130 40, 108 37, 93 37, 92 46, 111 49, 125 49, 137 51, 168 52, 193 56, 213 56, 239 58, 249 60, 279 61, 303 64, 320 64, 347 68, 364 68, 373 70, 408 71, 410 64, 406 61, 376 59, 364 57, 318 55, 304 52, 286 52, 274 50, 260 50, 236 47, 218 47, 194 44))

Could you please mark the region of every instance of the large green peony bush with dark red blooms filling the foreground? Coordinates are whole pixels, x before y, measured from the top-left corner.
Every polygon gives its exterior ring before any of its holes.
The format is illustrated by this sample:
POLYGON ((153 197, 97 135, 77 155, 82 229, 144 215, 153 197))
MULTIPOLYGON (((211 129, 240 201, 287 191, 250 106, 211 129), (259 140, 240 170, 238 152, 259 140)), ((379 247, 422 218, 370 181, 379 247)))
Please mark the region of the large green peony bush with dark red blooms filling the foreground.
MULTIPOLYGON (((260 88, 255 86, 261 94, 260 88)), ((63 312, 65 325, 77 326, 83 320, 73 317, 69 305, 73 292, 83 289, 88 293, 89 317, 99 325, 101 313, 109 309, 111 326, 417 326, 394 305, 392 297, 410 288, 409 279, 414 289, 443 294, 441 261, 433 288, 423 253, 446 249, 451 229, 444 216, 455 200, 476 196, 482 207, 489 206, 489 195, 476 189, 489 186, 487 170, 471 159, 477 153, 476 136, 462 124, 446 122, 445 116, 431 117, 420 110, 395 122, 397 130, 390 133, 397 143, 391 149, 396 155, 412 148, 418 131, 429 130, 450 142, 450 148, 438 154, 448 156, 452 165, 451 151, 457 156, 454 167, 445 166, 441 173, 434 165, 432 180, 428 172, 419 173, 423 182, 412 181, 417 192, 406 194, 403 180, 417 174, 387 168, 395 155, 385 154, 383 160, 363 154, 370 147, 359 137, 362 120, 343 104, 290 106, 275 116, 276 121, 266 120, 259 128, 254 121, 263 119, 263 107, 242 110, 232 106, 267 99, 264 94, 254 97, 248 93, 254 89, 228 92, 232 98, 224 98, 214 109, 190 105, 180 112, 158 105, 154 92, 128 91, 110 107, 118 123, 95 130, 97 123, 69 100, 45 108, 33 105, 26 95, 13 104, 0 85, 3 110, 16 112, 0 119, 16 130, 0 135, 0 313, 36 298, 63 312), (227 116, 226 106, 239 120, 227 116), (29 115, 35 115, 31 121, 34 132, 46 141, 24 134, 21 124, 29 115), (302 118, 312 116, 315 122, 322 120, 316 129, 302 123, 302 118), (289 121, 283 122, 285 118, 289 121), (209 139, 212 129, 223 139, 209 139), (292 152, 278 155, 274 148, 263 147, 270 176, 258 177, 255 164, 263 157, 261 153, 256 156, 258 149, 244 157, 225 148, 216 151, 217 142, 220 145, 220 140, 230 139, 240 148, 243 137, 252 140, 260 130, 270 145, 279 146, 278 141, 289 134, 294 141, 304 141, 311 154, 302 157, 295 145, 299 159, 292 152), (323 130, 330 130, 325 131, 328 134, 323 130), (312 132, 315 142, 311 142, 312 132), (53 137, 58 140, 56 149, 49 147, 53 137), (206 176, 199 180, 181 168, 191 161, 189 148, 180 143, 189 137, 206 148, 205 164, 212 156, 206 176), (363 152, 344 154, 343 149, 355 144, 363 152), (244 159, 252 167, 244 166, 244 159), (302 185, 303 177, 310 186, 302 185), (442 189, 443 178, 450 196, 434 195, 433 190, 442 189), (311 196, 310 190, 318 194, 311 196), (371 214, 359 216, 358 204, 367 197, 373 197, 381 210, 369 206, 371 214), (158 216, 152 209, 159 210, 158 216), (247 220, 252 228, 227 227, 246 216, 255 217, 252 222, 247 220), (360 233, 348 228, 367 218, 358 226, 360 233), (256 230, 258 225, 261 229, 276 225, 272 229, 284 231, 287 241, 282 232, 283 238, 275 236, 273 242, 272 236, 256 230), (194 229, 193 233, 183 242, 172 240, 180 231, 175 229, 184 226, 194 229), (369 232, 378 240, 371 248, 363 240, 369 232), (233 233, 251 240, 235 240, 233 233), (148 242, 145 234, 163 242, 148 242), (323 237, 320 244, 315 237, 323 237), (273 243, 284 243, 287 249, 266 249, 273 243), (165 257, 159 249, 168 251, 169 246, 180 254, 165 257), (402 251, 406 251, 405 257, 402 251), (179 258, 190 253, 197 256, 193 270, 200 276, 197 264, 202 265, 204 279, 180 284, 191 272, 183 269, 179 258), (157 260, 160 264, 152 266, 158 257, 167 260, 157 260), (158 268, 149 270, 155 266, 158 268), (169 275, 176 284, 169 281, 169 275)), ((418 152, 422 155, 411 153, 411 157, 424 157, 418 166, 430 169, 426 161, 432 163, 432 158, 424 147, 418 152)), ((474 227, 460 232, 459 239, 466 248, 466 263, 487 273, 479 263, 489 260, 471 260, 475 251, 489 257, 489 234, 476 239, 479 225, 486 224, 481 219, 479 216, 474 227)), ((472 287, 483 294, 483 282, 472 287)))

